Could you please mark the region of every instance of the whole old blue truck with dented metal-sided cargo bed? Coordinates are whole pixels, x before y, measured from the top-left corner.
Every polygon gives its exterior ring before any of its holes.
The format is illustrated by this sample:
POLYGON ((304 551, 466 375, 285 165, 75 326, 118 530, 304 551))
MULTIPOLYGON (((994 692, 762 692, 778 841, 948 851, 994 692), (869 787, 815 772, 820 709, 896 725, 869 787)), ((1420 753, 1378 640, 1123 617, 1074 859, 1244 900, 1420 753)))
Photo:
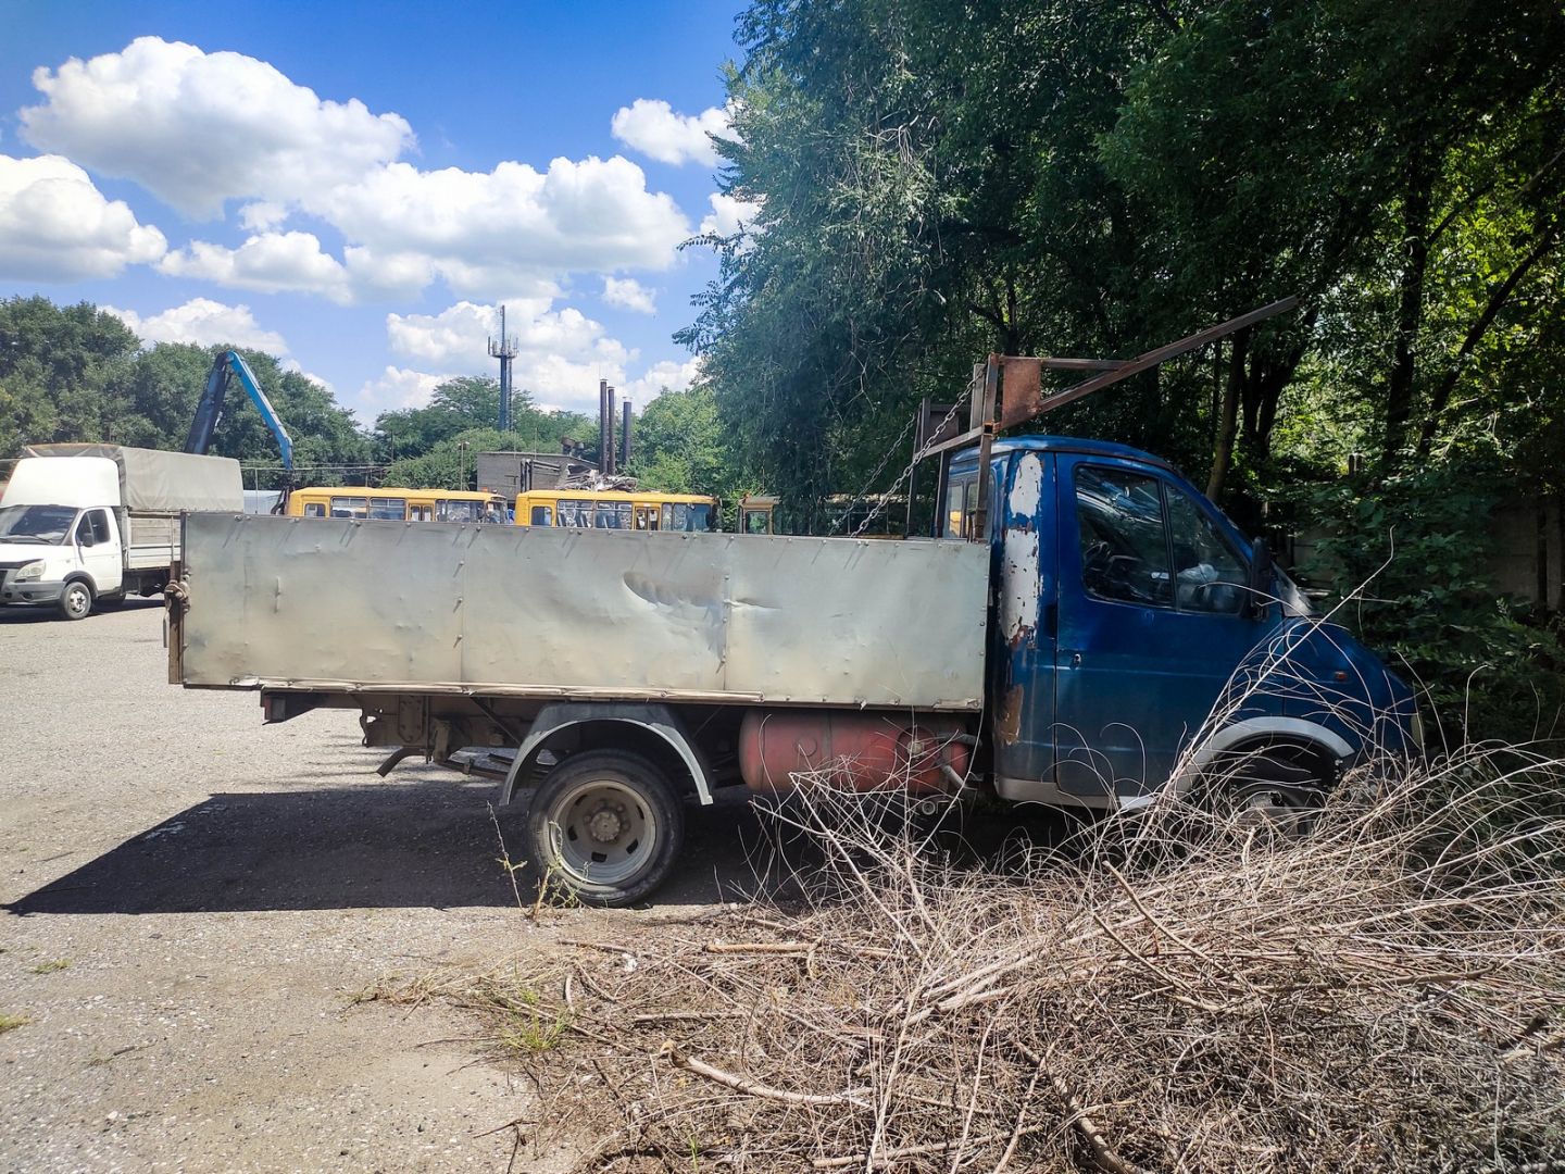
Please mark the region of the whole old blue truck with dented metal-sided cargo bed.
POLYGON ((923 446, 937 532, 903 542, 191 513, 171 681, 493 775, 598 905, 731 786, 1288 819, 1418 753, 1407 686, 1167 462, 1002 415, 923 446))

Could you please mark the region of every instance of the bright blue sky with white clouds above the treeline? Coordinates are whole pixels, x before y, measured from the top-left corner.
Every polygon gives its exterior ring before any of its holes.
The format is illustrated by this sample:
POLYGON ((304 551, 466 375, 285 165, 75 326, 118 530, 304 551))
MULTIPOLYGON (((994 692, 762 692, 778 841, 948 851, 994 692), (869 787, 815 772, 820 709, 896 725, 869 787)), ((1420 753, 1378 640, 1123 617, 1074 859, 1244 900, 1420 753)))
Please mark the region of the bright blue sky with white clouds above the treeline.
POLYGON ((717 199, 734 0, 0 0, 0 297, 285 355, 365 423, 493 373, 595 410, 695 374, 671 333, 751 208, 717 199))

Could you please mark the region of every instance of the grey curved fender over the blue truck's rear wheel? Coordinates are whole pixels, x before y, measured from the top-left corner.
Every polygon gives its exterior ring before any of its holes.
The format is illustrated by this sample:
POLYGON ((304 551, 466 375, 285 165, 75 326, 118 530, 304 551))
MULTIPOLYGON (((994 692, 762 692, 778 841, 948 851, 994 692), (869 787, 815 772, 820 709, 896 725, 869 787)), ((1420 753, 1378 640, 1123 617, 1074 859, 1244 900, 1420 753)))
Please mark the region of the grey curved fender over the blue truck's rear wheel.
POLYGON ((599 734, 593 748, 626 750, 659 765, 681 790, 693 790, 704 805, 712 801, 712 772, 706 756, 687 737, 684 725, 668 706, 563 703, 545 706, 516 748, 516 758, 501 784, 501 805, 527 789, 524 781, 538 756, 567 737, 599 734))

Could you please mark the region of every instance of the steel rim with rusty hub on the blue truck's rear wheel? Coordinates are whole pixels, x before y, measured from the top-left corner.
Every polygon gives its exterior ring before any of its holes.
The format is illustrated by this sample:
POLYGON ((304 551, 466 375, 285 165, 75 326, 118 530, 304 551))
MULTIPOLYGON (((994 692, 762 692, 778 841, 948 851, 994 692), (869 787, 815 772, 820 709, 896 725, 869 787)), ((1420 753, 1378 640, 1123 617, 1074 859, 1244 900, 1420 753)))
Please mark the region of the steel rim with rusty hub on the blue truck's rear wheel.
POLYGON ((549 808, 554 856, 582 884, 623 884, 657 853, 657 822, 646 801, 612 778, 584 780, 549 808))

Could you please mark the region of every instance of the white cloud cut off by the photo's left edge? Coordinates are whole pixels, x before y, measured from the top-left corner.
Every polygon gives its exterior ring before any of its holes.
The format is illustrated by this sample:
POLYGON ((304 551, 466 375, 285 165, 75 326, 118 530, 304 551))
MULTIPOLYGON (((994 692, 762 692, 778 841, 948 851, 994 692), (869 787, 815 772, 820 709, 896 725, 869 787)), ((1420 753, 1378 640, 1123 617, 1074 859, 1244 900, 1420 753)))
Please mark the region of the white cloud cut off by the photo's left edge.
POLYGON ((0 275, 28 282, 114 277, 156 261, 163 233, 108 200, 70 160, 0 155, 0 275))

